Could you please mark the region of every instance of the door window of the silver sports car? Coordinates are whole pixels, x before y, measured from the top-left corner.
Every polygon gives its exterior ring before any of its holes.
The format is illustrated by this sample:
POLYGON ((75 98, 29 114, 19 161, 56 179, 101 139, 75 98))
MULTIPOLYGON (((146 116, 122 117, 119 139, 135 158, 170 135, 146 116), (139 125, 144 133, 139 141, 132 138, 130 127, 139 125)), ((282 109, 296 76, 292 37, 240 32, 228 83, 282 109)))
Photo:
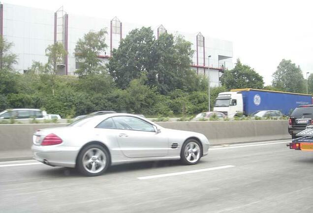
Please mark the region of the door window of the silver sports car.
POLYGON ((153 125, 139 118, 117 116, 113 118, 117 129, 155 132, 153 125))

